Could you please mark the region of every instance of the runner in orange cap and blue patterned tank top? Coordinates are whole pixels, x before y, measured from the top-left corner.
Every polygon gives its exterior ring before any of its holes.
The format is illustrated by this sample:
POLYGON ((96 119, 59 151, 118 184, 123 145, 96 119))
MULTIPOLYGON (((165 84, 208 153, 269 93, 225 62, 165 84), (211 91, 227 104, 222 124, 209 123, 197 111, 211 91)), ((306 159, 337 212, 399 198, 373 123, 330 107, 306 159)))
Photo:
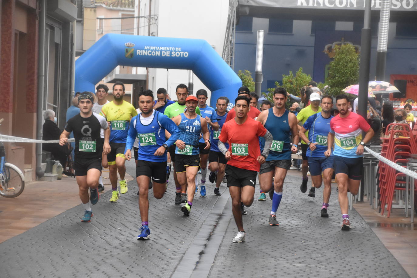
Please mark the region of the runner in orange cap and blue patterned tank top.
POLYGON ((178 183, 187 185, 187 202, 181 208, 186 216, 190 215, 196 191, 195 178, 200 166, 200 150, 198 148, 200 133, 206 143, 205 149, 210 148, 210 133, 208 132, 207 121, 196 114, 197 103, 197 98, 194 95, 189 95, 186 98, 185 112, 172 118, 180 130, 180 137, 175 142, 174 166, 178 183))

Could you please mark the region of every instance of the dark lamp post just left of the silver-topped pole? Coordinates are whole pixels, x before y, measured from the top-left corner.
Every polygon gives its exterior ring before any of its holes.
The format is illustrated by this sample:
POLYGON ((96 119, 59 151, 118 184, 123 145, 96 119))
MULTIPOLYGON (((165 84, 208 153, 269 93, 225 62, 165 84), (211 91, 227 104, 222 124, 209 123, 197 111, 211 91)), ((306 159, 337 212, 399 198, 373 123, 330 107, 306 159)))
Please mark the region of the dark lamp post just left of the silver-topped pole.
POLYGON ((369 64, 371 58, 371 0, 365 0, 364 28, 361 35, 359 66, 359 114, 366 119, 368 105, 369 64))

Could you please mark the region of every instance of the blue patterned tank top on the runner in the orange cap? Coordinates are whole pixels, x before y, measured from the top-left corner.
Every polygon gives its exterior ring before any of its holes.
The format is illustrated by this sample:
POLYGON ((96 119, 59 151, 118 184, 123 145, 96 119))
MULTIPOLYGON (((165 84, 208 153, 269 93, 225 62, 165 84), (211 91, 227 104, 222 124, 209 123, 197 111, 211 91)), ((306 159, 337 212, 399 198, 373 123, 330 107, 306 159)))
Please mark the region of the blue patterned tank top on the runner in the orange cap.
MULTIPOLYGON (((178 125, 180 130, 180 138, 186 145, 193 146, 193 155, 198 155, 200 149, 198 148, 198 140, 201 133, 201 121, 200 115, 197 115, 195 119, 188 119, 184 113, 181 113, 181 123, 178 125)), ((175 147, 175 153, 178 153, 178 147, 175 147)))

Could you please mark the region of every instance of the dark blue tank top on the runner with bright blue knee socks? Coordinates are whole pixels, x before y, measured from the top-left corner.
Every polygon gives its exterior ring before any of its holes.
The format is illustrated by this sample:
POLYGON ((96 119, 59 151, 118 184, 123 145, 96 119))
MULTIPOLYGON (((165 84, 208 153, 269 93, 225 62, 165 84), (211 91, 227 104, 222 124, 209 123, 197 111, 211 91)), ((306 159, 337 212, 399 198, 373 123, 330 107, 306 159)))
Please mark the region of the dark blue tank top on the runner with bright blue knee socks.
POLYGON ((291 128, 288 122, 288 110, 281 117, 274 114, 274 108, 269 108, 265 128, 272 134, 272 144, 267 161, 291 159, 291 142, 289 135, 291 128))

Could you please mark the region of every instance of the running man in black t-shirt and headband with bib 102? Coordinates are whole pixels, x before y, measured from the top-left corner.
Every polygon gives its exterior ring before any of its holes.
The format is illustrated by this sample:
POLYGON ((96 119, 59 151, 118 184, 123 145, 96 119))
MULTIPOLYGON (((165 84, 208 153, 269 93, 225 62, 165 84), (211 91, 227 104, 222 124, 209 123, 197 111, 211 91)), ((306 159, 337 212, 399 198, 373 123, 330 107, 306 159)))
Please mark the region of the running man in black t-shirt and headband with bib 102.
POLYGON ((93 113, 93 94, 82 93, 78 97, 80 114, 70 118, 59 138, 59 144, 65 145, 71 132, 75 138, 74 170, 78 190, 84 207, 82 222, 90 222, 93 212, 91 205, 98 202, 98 179, 101 175, 101 153, 110 152, 110 129, 106 119, 93 113), (100 138, 100 129, 104 130, 104 140, 100 138), (104 141, 104 142, 103 142, 104 141), (90 196, 88 196, 90 189, 90 196))

